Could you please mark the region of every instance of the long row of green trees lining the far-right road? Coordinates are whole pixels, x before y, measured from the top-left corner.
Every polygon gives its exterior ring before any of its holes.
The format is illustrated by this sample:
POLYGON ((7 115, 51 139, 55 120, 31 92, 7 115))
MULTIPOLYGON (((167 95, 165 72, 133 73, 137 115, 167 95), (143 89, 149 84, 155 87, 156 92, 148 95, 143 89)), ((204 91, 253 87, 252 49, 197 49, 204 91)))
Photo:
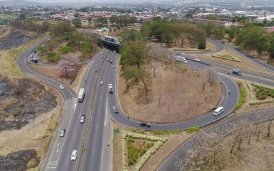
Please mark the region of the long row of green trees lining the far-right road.
POLYGON ((268 33, 260 23, 251 23, 245 18, 240 18, 240 26, 232 25, 225 28, 214 23, 197 25, 206 31, 208 37, 225 39, 243 51, 274 64, 274 33, 268 33))

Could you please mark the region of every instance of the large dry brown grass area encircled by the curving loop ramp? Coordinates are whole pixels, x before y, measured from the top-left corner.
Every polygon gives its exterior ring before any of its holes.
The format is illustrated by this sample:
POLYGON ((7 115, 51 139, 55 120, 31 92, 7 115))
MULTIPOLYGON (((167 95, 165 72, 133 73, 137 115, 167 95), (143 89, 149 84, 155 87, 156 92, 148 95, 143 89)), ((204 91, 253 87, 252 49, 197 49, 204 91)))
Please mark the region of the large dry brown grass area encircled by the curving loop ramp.
POLYGON ((126 83, 119 77, 119 98, 130 118, 159 123, 182 122, 205 114, 219 104, 222 94, 220 83, 217 80, 213 86, 206 83, 203 90, 202 82, 208 78, 205 73, 191 68, 183 73, 177 72, 176 68, 171 70, 170 66, 166 68, 160 62, 152 62, 152 66, 147 66, 152 75, 154 67, 149 104, 143 103, 145 98, 138 97, 137 88, 124 93, 126 83))

